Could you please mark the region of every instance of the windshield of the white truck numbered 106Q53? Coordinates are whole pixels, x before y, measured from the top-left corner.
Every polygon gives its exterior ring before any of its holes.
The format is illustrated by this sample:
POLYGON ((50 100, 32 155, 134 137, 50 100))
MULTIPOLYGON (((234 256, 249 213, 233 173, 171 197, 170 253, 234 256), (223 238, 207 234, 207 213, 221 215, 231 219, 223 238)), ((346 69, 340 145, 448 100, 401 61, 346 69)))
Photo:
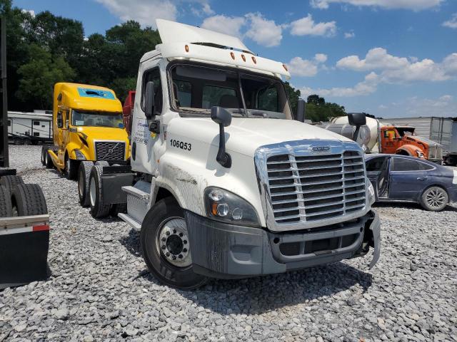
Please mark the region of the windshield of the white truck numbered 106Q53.
POLYGON ((207 116, 217 105, 238 117, 292 119, 286 91, 275 78, 178 65, 171 80, 172 105, 180 113, 207 116))

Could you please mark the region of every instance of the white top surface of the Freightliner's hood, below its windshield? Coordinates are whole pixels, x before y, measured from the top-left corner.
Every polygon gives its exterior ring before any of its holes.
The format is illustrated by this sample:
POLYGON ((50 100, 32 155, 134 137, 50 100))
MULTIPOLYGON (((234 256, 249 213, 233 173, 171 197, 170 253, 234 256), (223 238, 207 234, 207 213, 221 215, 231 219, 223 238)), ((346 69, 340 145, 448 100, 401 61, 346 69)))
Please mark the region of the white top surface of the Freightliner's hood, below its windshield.
MULTIPOLYGON (((219 125, 211 118, 175 118, 170 121, 167 130, 181 137, 219 146, 219 125)), ((342 135, 296 120, 268 118, 232 118, 231 125, 225 128, 225 133, 226 150, 251 157, 260 146, 286 141, 352 141, 342 135)))

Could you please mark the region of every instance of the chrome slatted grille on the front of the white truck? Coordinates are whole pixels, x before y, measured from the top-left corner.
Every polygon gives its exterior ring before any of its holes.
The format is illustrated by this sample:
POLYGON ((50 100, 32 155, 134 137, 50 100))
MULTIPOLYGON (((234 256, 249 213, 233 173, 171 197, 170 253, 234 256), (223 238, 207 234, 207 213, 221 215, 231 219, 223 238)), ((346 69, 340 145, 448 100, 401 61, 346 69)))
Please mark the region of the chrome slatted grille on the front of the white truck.
POLYGON ((365 207, 365 168, 358 151, 273 155, 266 164, 277 224, 342 217, 365 207))

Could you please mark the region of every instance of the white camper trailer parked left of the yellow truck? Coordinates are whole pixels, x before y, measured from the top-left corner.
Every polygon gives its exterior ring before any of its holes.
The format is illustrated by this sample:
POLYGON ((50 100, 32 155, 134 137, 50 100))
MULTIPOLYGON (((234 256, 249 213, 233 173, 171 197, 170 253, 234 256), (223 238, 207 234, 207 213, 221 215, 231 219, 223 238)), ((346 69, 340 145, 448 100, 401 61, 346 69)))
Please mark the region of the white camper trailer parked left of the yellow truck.
POLYGON ((16 145, 52 141, 52 114, 8 112, 8 138, 16 145))

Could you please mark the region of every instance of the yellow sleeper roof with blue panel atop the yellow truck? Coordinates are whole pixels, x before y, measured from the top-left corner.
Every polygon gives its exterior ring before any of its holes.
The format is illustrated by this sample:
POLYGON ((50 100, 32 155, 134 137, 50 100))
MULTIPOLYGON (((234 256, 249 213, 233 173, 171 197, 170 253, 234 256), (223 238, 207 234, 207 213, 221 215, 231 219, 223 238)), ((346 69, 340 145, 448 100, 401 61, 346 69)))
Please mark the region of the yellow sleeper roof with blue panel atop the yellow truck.
POLYGON ((65 108, 122 112, 121 101, 109 88, 78 83, 56 83, 54 101, 65 108), (59 95, 62 94, 59 101, 59 95))

